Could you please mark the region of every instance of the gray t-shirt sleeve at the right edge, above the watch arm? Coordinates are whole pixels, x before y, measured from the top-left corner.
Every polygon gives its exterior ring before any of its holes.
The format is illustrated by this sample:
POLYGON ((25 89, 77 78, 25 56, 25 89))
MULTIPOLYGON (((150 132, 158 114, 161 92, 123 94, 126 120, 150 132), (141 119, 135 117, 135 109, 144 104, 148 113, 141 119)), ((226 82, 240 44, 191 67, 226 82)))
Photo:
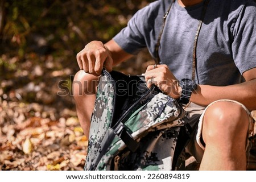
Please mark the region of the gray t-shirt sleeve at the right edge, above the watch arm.
POLYGON ((240 11, 233 29, 232 52, 240 73, 256 67, 256 3, 249 1, 240 11))

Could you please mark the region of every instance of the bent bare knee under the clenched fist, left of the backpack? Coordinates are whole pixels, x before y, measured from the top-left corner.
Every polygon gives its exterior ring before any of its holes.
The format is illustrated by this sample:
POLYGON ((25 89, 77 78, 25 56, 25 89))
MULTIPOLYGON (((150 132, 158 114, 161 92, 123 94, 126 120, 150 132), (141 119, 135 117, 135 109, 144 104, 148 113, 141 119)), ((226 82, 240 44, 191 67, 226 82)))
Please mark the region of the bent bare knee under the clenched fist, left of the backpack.
POLYGON ((72 85, 74 98, 96 94, 98 78, 99 77, 90 75, 84 71, 77 72, 72 85))

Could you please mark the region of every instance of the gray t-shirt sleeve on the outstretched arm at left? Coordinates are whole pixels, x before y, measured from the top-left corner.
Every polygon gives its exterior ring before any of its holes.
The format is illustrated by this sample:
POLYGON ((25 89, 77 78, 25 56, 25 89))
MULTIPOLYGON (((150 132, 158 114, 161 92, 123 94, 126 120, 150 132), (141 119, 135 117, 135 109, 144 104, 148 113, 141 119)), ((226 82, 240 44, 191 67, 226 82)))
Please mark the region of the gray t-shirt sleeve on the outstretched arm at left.
POLYGON ((123 28, 114 36, 114 41, 126 52, 133 55, 143 48, 150 48, 155 43, 155 36, 158 35, 160 27, 159 6, 162 1, 155 1, 137 11, 129 20, 127 27, 123 28), (158 26, 159 24, 159 26, 158 26), (149 45, 151 44, 151 45, 149 45))

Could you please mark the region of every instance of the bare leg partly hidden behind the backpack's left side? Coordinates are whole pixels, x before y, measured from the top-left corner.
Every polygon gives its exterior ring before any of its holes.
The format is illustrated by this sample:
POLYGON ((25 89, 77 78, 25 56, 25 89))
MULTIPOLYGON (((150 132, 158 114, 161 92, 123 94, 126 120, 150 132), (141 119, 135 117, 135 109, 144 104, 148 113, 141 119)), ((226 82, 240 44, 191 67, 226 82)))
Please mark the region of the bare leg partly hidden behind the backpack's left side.
POLYGON ((96 100, 96 87, 99 77, 79 71, 73 81, 73 94, 77 117, 86 137, 89 137, 90 117, 96 100))

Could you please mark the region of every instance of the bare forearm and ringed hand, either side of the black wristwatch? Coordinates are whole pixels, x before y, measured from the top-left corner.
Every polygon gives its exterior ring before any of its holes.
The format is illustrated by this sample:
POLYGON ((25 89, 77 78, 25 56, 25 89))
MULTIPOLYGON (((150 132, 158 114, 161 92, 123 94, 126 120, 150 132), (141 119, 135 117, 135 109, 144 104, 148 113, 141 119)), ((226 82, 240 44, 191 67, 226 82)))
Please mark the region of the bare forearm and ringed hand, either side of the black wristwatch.
MULTIPOLYGON (((180 97, 181 88, 167 65, 157 65, 156 68, 152 65, 148 66, 145 77, 146 81, 154 78, 154 84, 169 96, 173 98, 180 97)), ((241 102, 249 110, 256 110, 256 68, 243 73, 243 77, 246 81, 236 85, 198 85, 196 91, 192 93, 190 101, 198 105, 207 106, 213 101, 230 99, 241 102)), ((150 82, 148 86, 151 84, 150 82)))

